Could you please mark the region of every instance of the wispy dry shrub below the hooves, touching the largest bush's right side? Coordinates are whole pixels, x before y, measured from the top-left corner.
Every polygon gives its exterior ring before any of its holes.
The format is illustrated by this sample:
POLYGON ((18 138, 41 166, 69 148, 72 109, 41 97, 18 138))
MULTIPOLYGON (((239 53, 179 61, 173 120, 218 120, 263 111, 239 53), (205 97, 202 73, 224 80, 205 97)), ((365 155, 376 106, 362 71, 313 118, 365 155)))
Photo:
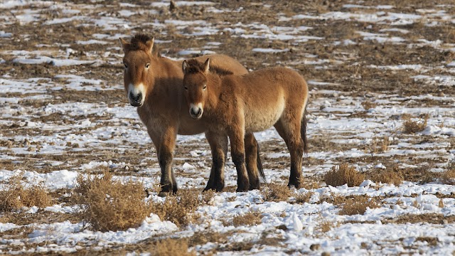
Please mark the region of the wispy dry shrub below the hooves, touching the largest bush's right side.
POLYGON ((205 191, 201 196, 196 190, 179 190, 176 196, 167 196, 164 203, 152 203, 151 212, 159 215, 161 220, 185 226, 199 217, 194 211, 209 203, 214 194, 213 191, 205 191))

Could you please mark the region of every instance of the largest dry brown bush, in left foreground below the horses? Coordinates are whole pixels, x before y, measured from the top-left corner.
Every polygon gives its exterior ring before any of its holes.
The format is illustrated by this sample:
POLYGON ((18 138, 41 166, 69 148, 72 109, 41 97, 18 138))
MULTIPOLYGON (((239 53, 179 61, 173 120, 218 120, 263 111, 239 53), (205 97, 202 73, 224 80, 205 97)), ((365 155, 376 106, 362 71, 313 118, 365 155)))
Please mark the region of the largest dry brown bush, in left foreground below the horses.
POLYGON ((136 228, 151 213, 142 183, 112 181, 108 171, 102 176, 77 176, 74 192, 75 202, 82 205, 80 217, 95 230, 136 228))

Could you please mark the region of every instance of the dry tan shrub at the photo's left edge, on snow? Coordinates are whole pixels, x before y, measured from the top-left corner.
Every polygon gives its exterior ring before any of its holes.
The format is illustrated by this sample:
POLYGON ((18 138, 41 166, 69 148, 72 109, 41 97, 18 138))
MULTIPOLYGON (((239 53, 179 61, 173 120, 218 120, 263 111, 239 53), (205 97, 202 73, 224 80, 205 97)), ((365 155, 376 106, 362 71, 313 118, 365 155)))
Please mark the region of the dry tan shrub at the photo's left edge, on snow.
POLYGON ((0 211, 18 210, 23 206, 44 208, 52 205, 52 198, 42 183, 24 188, 21 180, 22 175, 12 176, 5 189, 0 191, 0 211))

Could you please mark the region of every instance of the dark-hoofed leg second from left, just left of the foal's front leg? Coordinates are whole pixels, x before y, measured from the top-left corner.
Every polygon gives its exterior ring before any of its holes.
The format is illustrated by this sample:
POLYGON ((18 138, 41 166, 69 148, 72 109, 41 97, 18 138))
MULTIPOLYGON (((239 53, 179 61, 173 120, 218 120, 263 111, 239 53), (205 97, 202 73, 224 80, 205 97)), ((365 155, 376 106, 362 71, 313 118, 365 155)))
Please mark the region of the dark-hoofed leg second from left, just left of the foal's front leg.
POLYGON ((223 191, 225 187, 225 163, 228 155, 228 137, 225 135, 205 132, 208 144, 212 151, 212 169, 210 169, 210 177, 208 178, 207 186, 204 191, 215 189, 215 191, 223 191))

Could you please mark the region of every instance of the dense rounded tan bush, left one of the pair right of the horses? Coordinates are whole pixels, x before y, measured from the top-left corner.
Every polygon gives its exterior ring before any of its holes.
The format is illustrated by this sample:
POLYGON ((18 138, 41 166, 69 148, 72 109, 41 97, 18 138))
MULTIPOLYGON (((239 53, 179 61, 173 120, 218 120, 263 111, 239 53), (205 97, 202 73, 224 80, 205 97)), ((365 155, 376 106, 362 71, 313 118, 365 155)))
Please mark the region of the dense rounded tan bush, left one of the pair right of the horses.
POLYGON ((341 186, 348 184, 348 186, 359 186, 365 180, 365 175, 360 174, 355 170, 354 166, 349 164, 341 164, 340 166, 333 166, 331 171, 328 171, 324 176, 324 181, 327 186, 341 186))

